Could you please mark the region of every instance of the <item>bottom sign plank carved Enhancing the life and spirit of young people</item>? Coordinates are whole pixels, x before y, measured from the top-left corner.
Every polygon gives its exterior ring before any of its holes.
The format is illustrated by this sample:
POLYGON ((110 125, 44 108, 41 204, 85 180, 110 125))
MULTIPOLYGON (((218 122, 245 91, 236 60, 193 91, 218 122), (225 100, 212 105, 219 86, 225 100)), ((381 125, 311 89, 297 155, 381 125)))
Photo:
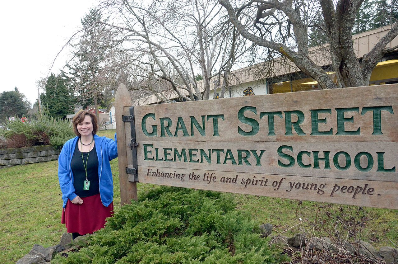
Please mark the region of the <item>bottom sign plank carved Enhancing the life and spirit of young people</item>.
POLYGON ((150 166, 138 168, 142 183, 347 205, 398 208, 397 182, 232 173, 207 169, 170 169, 150 166), (155 175, 152 176, 152 173, 155 175), (169 174, 166 177, 164 173, 172 173, 172 176, 169 174), (181 177, 182 174, 185 175, 181 177), (227 182, 222 182, 223 179, 227 182))

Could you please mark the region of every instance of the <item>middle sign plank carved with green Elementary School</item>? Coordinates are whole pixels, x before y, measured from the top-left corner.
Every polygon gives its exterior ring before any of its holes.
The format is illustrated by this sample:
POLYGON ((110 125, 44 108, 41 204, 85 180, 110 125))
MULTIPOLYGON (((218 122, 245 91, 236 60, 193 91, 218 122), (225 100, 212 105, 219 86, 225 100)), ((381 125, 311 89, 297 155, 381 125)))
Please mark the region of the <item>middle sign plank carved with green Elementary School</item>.
POLYGON ((143 166, 398 182, 398 142, 147 141, 137 152, 143 166))

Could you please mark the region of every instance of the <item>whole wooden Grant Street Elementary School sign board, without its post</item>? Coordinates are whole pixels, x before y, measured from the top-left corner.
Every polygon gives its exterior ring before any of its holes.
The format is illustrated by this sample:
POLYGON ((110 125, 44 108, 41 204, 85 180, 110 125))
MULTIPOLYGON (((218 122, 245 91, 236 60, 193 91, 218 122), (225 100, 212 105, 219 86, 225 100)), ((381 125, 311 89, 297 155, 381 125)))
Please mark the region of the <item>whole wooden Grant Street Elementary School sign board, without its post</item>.
POLYGON ((132 181, 398 209, 398 85, 124 111, 132 181))

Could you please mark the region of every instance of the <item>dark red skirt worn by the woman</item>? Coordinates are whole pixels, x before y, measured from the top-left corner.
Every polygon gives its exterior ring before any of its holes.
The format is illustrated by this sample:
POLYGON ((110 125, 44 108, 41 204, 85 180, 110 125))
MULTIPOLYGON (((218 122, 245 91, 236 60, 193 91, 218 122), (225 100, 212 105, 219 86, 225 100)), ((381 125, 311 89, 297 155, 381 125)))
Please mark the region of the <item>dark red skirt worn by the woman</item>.
POLYGON ((83 203, 72 203, 69 199, 62 210, 61 223, 68 233, 92 234, 105 226, 106 218, 113 214, 113 202, 103 206, 100 194, 82 197, 83 203))

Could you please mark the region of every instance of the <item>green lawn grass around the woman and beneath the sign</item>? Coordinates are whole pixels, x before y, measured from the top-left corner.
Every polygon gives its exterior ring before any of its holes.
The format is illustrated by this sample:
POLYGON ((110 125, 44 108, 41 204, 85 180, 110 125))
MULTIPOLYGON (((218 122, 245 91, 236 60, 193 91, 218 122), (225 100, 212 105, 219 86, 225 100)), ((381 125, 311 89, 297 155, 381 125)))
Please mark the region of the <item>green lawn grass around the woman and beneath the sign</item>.
MULTIPOLYGON (((98 132, 98 135, 113 138, 114 133, 115 130, 105 130, 98 132)), ((117 159, 111 162, 111 167, 117 211, 120 209, 117 159)), ((0 264, 15 263, 34 244, 45 247, 58 244, 60 236, 66 232, 65 226, 60 223, 62 200, 57 169, 57 161, 0 169, 0 264)), ((140 195, 140 192, 157 188, 157 185, 138 183, 137 188, 140 195)), ((312 223, 318 213, 319 221, 326 219, 326 229, 329 228, 328 215, 339 216, 343 223, 371 219, 365 222, 361 239, 370 241, 376 248, 393 246, 392 242, 398 242, 398 210, 370 207, 361 210, 357 206, 301 203, 254 195, 233 196, 238 208, 247 211, 258 224, 272 223, 279 232, 300 224, 284 234, 303 230, 314 232, 312 223)))

